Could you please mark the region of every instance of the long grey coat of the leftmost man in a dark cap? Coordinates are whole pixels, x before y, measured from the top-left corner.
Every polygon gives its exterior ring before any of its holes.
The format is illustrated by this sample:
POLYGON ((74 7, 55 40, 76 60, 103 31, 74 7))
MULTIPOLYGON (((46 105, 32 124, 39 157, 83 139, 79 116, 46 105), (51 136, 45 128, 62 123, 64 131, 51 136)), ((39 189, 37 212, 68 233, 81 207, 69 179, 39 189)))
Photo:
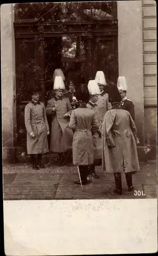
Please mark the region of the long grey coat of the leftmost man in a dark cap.
POLYGON ((28 154, 43 154, 48 152, 47 122, 44 103, 41 101, 30 101, 24 109, 24 122, 27 129, 27 151, 28 154), (34 132, 35 137, 30 134, 34 132))

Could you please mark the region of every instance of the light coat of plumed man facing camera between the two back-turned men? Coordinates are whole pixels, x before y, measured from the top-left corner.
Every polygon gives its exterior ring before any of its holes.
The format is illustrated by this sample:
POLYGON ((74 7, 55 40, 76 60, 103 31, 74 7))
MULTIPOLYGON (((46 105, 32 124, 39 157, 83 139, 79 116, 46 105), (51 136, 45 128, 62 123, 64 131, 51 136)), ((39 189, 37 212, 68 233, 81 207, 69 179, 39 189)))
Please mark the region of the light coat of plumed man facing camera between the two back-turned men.
POLYGON ((109 102, 109 95, 106 91, 102 91, 98 95, 98 100, 96 104, 98 107, 99 118, 100 118, 100 121, 102 122, 106 112, 112 109, 112 104, 109 102))

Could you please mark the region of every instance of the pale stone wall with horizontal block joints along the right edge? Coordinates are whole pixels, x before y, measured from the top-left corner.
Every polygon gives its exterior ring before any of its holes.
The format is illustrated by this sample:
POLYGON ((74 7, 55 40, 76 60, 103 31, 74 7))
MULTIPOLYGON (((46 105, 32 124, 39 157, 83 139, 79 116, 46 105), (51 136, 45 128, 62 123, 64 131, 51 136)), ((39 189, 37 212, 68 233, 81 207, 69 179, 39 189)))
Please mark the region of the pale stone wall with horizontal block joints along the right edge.
POLYGON ((157 70, 155 1, 142 1, 142 31, 146 156, 148 159, 155 159, 157 154, 157 70))

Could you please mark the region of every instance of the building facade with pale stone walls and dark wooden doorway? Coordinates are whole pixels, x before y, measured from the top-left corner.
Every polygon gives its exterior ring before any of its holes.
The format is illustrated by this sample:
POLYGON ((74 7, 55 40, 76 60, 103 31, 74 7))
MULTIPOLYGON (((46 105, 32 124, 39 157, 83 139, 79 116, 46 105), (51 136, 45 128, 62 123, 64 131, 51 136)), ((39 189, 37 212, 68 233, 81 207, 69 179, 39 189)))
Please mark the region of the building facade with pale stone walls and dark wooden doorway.
POLYGON ((56 6, 45 6, 42 12, 31 6, 33 10, 25 8, 29 17, 20 6, 2 6, 4 162, 25 156, 23 114, 29 89, 38 83, 45 102, 52 71, 61 63, 66 80, 80 71, 74 75, 76 84, 81 75, 87 82, 97 70, 115 83, 125 76, 127 96, 135 104, 139 158, 156 158, 156 3, 104 2, 99 12, 95 4, 91 10, 88 4, 78 9, 63 4, 60 13, 56 6))

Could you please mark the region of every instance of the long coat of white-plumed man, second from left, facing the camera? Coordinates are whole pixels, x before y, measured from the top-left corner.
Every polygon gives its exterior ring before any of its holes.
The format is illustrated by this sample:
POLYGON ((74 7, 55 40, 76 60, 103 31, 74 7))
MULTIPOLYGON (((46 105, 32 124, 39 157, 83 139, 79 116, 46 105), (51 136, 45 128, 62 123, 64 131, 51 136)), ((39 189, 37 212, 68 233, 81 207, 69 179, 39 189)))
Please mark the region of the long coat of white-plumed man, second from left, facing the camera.
POLYGON ((72 107, 70 101, 66 97, 50 99, 46 106, 46 114, 51 115, 51 137, 50 151, 56 153, 64 153, 72 148, 73 132, 69 128, 70 118, 65 118, 66 113, 71 114, 72 107), (52 112, 52 108, 56 108, 56 112, 52 112))

